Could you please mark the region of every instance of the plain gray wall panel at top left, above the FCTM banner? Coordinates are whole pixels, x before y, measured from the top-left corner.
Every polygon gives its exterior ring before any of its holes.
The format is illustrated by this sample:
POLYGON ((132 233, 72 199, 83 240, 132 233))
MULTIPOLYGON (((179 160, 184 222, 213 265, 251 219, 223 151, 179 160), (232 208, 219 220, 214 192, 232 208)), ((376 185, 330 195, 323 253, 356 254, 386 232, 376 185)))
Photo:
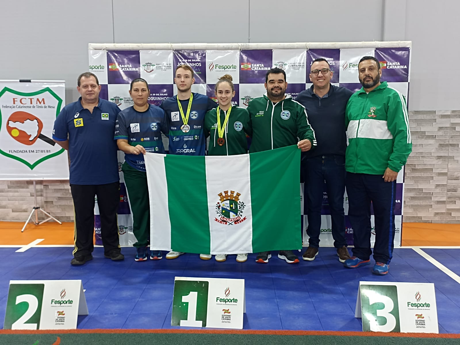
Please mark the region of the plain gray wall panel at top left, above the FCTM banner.
POLYGON ((78 96, 88 70, 88 42, 113 42, 111 0, 1 1, 0 79, 66 81, 66 102, 78 96))

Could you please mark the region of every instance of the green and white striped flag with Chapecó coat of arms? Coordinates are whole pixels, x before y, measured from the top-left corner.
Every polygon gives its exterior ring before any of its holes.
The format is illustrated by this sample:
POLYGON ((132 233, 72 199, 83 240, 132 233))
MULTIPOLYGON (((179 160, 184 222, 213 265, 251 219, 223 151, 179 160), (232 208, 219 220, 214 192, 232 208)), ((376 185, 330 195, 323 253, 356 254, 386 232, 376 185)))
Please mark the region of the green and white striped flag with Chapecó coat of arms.
POLYGON ((144 158, 151 249, 238 254, 302 247, 297 146, 144 158))

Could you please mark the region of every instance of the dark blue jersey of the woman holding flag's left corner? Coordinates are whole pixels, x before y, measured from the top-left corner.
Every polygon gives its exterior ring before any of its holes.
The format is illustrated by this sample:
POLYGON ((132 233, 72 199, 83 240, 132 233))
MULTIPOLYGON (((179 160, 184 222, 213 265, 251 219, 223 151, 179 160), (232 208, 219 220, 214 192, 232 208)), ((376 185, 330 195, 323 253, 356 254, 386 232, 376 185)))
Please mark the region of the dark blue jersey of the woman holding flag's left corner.
MULTIPOLYGON (((165 112, 150 104, 144 112, 138 112, 134 106, 122 110, 116 119, 114 139, 126 139, 131 146, 141 145, 147 152, 165 153, 161 132, 168 134, 165 112)), ((142 153, 125 153, 125 161, 134 169, 145 172, 142 153)))

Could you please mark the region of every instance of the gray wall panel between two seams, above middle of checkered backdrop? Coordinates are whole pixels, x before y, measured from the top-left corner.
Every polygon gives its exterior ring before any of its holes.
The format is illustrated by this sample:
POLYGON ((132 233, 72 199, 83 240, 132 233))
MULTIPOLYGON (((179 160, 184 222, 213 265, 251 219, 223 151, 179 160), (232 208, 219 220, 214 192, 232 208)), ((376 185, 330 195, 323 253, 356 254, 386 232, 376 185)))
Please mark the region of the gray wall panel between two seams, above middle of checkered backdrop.
POLYGON ((248 1, 113 0, 115 43, 247 42, 248 1))

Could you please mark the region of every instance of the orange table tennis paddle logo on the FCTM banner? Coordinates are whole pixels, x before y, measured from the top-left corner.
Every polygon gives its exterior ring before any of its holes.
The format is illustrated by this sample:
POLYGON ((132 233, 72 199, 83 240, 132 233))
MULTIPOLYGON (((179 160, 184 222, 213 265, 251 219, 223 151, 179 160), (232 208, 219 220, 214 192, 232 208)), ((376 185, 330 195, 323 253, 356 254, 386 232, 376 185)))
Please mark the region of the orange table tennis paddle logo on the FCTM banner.
POLYGON ((37 139, 41 139, 54 146, 56 143, 49 137, 41 134, 43 122, 31 113, 24 111, 14 112, 6 121, 8 134, 16 141, 24 145, 33 145, 37 139))

